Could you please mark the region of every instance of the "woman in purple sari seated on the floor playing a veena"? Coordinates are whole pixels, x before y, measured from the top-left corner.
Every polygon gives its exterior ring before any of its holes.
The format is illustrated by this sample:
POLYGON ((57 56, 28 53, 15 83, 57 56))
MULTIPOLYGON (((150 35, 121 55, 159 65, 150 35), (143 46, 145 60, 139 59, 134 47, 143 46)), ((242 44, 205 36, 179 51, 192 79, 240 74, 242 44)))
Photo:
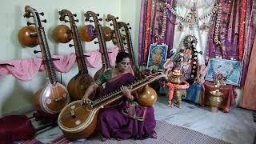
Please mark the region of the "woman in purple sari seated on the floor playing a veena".
POLYGON ((100 111, 98 116, 98 132, 102 135, 102 141, 105 141, 106 138, 156 138, 154 131, 156 126, 154 108, 152 106, 143 107, 136 105, 137 103, 133 101, 136 101, 137 94, 132 93, 130 88, 125 86, 135 80, 134 75, 129 70, 129 54, 119 52, 116 57, 116 67, 106 70, 89 86, 82 98, 82 102, 90 102, 91 100, 88 96, 104 83, 106 83, 106 87, 100 92, 98 98, 120 87, 125 95, 122 100, 100 111))

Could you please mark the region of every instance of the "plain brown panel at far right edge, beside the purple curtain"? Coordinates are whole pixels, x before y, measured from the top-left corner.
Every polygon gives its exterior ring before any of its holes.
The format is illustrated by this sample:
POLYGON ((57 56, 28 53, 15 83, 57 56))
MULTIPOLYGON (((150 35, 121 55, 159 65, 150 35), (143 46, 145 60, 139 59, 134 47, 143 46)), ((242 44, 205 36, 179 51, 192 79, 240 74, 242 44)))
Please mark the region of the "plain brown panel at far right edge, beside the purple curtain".
POLYGON ((250 55, 245 86, 242 90, 240 106, 249 110, 256 110, 256 38, 250 55))

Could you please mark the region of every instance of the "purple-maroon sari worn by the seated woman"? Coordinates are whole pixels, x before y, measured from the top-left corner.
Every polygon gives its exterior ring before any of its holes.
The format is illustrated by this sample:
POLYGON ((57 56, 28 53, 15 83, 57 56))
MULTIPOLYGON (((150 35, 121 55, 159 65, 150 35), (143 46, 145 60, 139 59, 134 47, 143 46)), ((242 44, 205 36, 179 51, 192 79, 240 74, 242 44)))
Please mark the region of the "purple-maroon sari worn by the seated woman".
MULTIPOLYGON (((115 77, 114 80, 106 82, 106 88, 101 94, 108 94, 113 90, 118 89, 122 85, 134 82, 133 74, 123 74, 122 77, 115 77)), ((135 98, 136 99, 136 98, 135 98)), ((136 114, 145 114, 145 118, 141 121, 136 118, 127 117, 123 111, 129 109, 129 104, 126 98, 122 99, 122 104, 111 106, 100 111, 98 117, 98 130, 103 138, 118 138, 118 139, 144 139, 153 138, 155 136, 154 128, 156 122, 154 119, 154 108, 136 106, 136 114), (145 111, 146 110, 146 111, 145 111)))

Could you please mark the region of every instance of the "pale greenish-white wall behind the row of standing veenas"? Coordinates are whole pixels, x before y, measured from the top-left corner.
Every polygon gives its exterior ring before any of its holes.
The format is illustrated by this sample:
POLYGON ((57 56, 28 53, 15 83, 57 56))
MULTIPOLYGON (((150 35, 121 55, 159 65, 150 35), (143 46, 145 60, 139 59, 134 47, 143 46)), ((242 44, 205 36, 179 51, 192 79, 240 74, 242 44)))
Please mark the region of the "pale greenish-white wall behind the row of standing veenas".
MULTIPOLYGON (((46 18, 47 23, 43 23, 48 38, 48 44, 51 50, 51 54, 69 54, 74 52, 74 48, 70 48, 68 44, 57 44, 50 37, 51 30, 54 26, 61 24, 58 20, 58 10, 66 9, 72 13, 78 14, 77 23, 78 26, 84 25, 83 13, 87 10, 99 13, 100 16, 106 14, 112 14, 122 18, 124 22, 130 22, 133 30, 132 38, 134 41, 134 47, 138 45, 138 11, 140 8, 139 0, 5 0, 1 2, 0 9, 0 43, 1 53, 0 62, 9 61, 13 59, 33 58, 40 56, 40 54, 34 54, 34 50, 39 50, 37 46, 35 48, 22 48, 18 43, 17 33, 22 26, 26 26, 27 19, 23 18, 24 7, 29 5, 38 12, 44 12, 45 15, 41 18, 46 18), (138 6, 139 5, 139 6, 138 6), (127 7, 126 7, 127 6, 127 7), (123 11, 122 11, 123 10, 123 11), (128 11, 132 10, 128 13, 128 11), (134 14, 135 13, 135 14, 134 14), (136 28, 134 28, 137 26, 136 28)), ((33 22, 30 18, 30 22, 33 22)), ((86 23, 88 24, 88 23, 86 23)), ((66 24, 69 26, 69 23, 66 24)), ((109 22, 103 22, 103 25, 109 25, 109 22)), ((92 44, 93 42, 84 43, 85 50, 91 51, 97 50, 98 46, 92 44)), ((113 46, 112 42, 107 43, 108 47, 113 46)), ((78 68, 74 66, 69 73, 62 74, 62 82, 67 85, 70 78, 77 74, 78 68)), ((90 69, 90 74, 94 74, 95 70, 90 69)), ((59 75, 59 73, 58 73, 59 75)), ((29 82, 18 81, 12 75, 6 75, 0 78, 0 116, 10 113, 11 111, 20 110, 26 107, 33 107, 34 93, 45 83, 46 75, 44 72, 36 74, 36 76, 29 82)))

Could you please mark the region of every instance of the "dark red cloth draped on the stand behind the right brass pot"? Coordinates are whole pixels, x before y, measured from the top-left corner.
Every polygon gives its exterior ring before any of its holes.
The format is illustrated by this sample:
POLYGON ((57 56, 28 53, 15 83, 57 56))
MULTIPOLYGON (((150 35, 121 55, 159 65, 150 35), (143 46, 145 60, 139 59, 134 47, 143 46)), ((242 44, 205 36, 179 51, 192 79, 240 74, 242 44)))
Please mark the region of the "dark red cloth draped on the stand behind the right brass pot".
MULTIPOLYGON (((210 91, 215 90, 216 88, 214 87, 214 82, 209 82, 206 81, 204 82, 205 86, 205 96, 206 96, 206 105, 208 104, 208 97, 210 95, 210 91)), ((222 98, 223 102, 222 105, 219 106, 219 109, 222 110, 223 112, 230 112, 230 107, 234 106, 235 103, 235 98, 237 98, 237 94, 234 91, 234 86, 231 85, 225 85, 225 86, 220 86, 219 89, 222 92, 222 98)))

